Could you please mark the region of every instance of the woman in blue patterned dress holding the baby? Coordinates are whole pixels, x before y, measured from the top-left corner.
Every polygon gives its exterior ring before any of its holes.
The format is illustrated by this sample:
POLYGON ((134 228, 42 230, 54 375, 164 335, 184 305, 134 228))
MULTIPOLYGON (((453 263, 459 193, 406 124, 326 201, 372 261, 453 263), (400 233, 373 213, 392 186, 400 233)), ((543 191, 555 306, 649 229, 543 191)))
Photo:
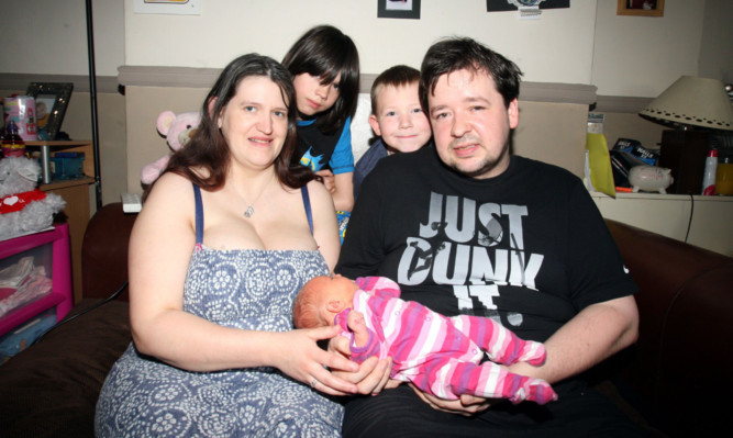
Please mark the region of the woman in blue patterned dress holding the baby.
POLYGON ((149 192, 130 240, 133 344, 102 389, 98 436, 337 436, 343 409, 321 393, 375 386, 325 368, 364 377, 316 346, 337 327, 290 329, 296 293, 340 250, 327 190, 289 166, 293 101, 277 61, 234 59, 149 192))

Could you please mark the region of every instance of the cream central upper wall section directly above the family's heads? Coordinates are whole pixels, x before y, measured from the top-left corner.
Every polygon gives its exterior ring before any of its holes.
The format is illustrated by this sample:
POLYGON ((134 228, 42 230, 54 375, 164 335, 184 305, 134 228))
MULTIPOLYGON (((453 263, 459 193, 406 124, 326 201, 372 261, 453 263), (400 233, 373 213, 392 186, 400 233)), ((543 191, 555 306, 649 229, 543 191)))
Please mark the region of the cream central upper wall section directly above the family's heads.
POLYGON ((517 12, 488 13, 485 0, 423 0, 420 20, 378 19, 376 0, 277 0, 277 12, 271 0, 202 0, 201 15, 134 13, 133 1, 125 0, 124 15, 131 66, 222 68, 248 52, 281 59, 308 29, 331 23, 354 40, 365 74, 419 67, 433 42, 459 34, 511 57, 526 80, 590 83, 595 0, 522 22, 517 12))

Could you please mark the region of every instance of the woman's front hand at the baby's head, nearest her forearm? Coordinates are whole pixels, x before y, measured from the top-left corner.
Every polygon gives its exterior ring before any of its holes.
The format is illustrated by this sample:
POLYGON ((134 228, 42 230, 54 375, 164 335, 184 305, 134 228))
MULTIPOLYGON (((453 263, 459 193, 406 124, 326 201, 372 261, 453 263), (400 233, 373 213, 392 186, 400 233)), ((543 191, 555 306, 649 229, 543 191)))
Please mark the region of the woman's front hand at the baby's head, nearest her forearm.
POLYGON ((287 337, 280 348, 276 350, 273 361, 284 373, 303 382, 316 391, 331 395, 351 395, 358 393, 355 383, 331 373, 325 367, 333 370, 343 370, 343 374, 358 372, 357 363, 335 352, 324 351, 315 344, 321 339, 330 339, 338 335, 338 326, 298 329, 280 333, 287 337))

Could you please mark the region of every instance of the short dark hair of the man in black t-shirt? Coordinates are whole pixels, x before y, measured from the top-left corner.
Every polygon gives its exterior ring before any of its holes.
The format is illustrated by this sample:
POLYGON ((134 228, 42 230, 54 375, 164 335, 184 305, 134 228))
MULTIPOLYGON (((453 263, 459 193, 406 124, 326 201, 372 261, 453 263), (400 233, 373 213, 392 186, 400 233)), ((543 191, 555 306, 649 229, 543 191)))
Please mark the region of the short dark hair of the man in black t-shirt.
POLYGON ((486 71, 493 78, 504 105, 519 97, 522 71, 517 64, 489 47, 467 37, 453 37, 433 44, 422 60, 420 104, 429 114, 427 96, 435 91, 437 79, 458 70, 486 71))

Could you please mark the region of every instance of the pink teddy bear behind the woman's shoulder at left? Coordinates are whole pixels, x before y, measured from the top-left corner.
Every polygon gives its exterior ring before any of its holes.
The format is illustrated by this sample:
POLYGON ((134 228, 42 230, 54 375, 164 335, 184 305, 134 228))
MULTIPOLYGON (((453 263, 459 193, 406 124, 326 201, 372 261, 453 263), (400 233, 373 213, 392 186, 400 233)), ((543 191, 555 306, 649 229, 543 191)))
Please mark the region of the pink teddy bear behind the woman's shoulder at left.
MULTIPOLYGON (((166 137, 170 149, 176 151, 184 147, 191 136, 196 134, 199 123, 201 123, 201 114, 198 112, 185 112, 176 115, 173 111, 164 111, 158 115, 156 126, 160 135, 166 137)), ((166 166, 168 166, 169 159, 170 154, 145 166, 141 172, 140 180, 144 184, 155 182, 166 166)))

